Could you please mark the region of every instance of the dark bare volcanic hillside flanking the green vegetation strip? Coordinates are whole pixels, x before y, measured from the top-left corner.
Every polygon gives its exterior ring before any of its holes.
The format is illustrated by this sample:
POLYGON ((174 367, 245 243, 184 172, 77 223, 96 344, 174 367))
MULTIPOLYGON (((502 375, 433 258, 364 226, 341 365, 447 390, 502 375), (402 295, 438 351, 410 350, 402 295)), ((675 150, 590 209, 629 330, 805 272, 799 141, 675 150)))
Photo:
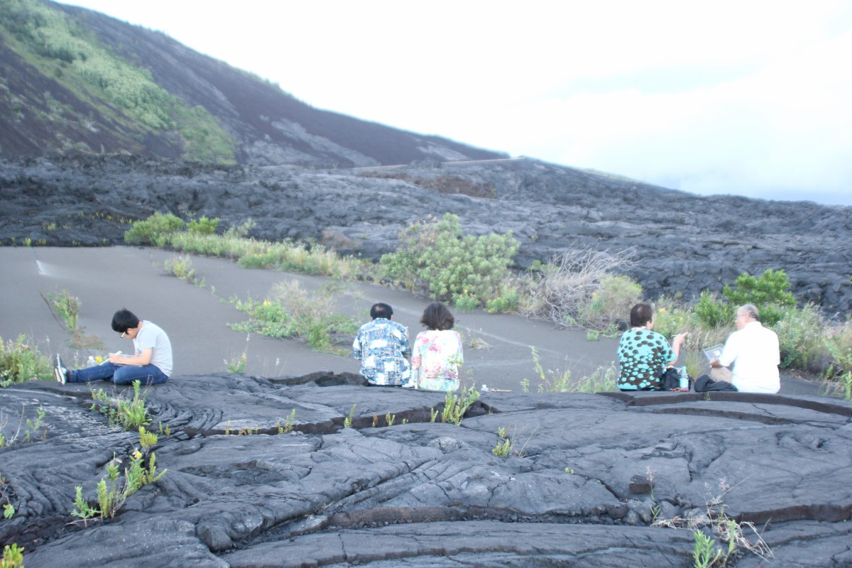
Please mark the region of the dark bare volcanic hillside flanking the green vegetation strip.
MULTIPOLYGON (((96 37, 98 45, 150 72, 159 87, 186 101, 188 107, 204 107, 233 138, 236 159, 242 164, 349 167, 505 157, 503 152, 439 136, 320 111, 277 85, 200 55, 161 32, 87 9, 43 4, 67 14, 86 37, 96 37)), ((91 85, 66 88, 68 61, 43 54, 21 56, 12 46, 19 44, 11 34, 0 33, 0 155, 184 155, 186 148, 177 131, 145 127, 91 85)))

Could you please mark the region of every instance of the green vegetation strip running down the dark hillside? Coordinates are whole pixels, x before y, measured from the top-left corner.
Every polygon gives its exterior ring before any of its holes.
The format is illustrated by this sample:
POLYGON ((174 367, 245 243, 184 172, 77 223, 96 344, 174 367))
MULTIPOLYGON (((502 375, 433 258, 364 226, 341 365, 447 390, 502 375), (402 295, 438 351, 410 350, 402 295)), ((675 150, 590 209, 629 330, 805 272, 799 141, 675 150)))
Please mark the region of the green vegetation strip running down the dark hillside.
MULTIPOLYGON (((126 115, 112 117, 130 129, 180 135, 184 158, 233 163, 235 144, 209 112, 170 95, 150 72, 118 57, 93 34, 60 11, 35 0, 0 2, 5 42, 45 76, 53 77, 81 100, 111 114, 102 101, 126 115), (130 120, 128 120, 130 118, 130 120)), ((61 109, 60 109, 61 110, 61 109)), ((72 109, 64 109, 66 114, 72 109)), ((80 118, 85 122, 89 118, 80 118)), ((94 128, 94 124, 89 124, 94 128)))

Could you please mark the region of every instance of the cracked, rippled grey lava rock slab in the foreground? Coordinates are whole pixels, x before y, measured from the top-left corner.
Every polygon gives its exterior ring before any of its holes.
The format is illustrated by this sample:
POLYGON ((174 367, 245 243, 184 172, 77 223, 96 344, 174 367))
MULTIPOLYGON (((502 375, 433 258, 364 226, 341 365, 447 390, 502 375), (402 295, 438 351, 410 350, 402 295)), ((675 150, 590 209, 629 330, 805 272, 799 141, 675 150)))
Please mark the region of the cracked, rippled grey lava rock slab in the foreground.
POLYGON ((68 524, 75 485, 94 496, 105 463, 137 435, 89 411, 85 386, 0 390, 10 427, 39 407, 47 426, 46 439, 0 450, 16 508, 0 543, 24 546, 30 568, 687 566, 692 532, 652 527, 653 508, 688 516, 723 494, 732 517, 765 525, 774 554, 738 566, 852 563, 852 404, 486 393, 457 427, 429 422, 439 393, 356 382, 206 374, 153 387, 168 472, 87 527, 68 524), (296 432, 278 434, 291 409, 296 432), (521 455, 492 454, 500 427, 521 455))

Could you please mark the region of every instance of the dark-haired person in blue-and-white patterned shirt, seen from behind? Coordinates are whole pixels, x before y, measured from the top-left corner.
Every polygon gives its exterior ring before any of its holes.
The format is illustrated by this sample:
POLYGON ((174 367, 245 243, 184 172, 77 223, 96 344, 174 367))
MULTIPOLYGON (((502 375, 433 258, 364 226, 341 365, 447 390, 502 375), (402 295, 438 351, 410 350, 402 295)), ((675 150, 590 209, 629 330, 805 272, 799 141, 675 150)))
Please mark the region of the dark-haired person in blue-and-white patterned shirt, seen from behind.
POLYGON ((391 321, 394 308, 379 302, 370 308, 372 321, 358 330, 352 356, 361 361, 361 375, 371 385, 406 387, 412 376, 408 330, 391 321))

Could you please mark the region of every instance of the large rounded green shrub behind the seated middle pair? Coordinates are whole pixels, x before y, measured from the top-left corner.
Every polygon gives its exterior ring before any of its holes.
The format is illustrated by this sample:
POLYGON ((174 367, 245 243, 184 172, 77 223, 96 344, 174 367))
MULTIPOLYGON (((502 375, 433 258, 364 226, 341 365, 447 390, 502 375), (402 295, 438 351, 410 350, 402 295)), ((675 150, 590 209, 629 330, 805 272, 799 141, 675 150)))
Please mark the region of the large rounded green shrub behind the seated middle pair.
POLYGON ((509 266, 520 244, 511 232, 463 236, 458 215, 441 221, 423 221, 408 227, 400 247, 382 256, 388 278, 409 290, 425 292, 435 300, 474 298, 477 305, 503 295, 509 266))

